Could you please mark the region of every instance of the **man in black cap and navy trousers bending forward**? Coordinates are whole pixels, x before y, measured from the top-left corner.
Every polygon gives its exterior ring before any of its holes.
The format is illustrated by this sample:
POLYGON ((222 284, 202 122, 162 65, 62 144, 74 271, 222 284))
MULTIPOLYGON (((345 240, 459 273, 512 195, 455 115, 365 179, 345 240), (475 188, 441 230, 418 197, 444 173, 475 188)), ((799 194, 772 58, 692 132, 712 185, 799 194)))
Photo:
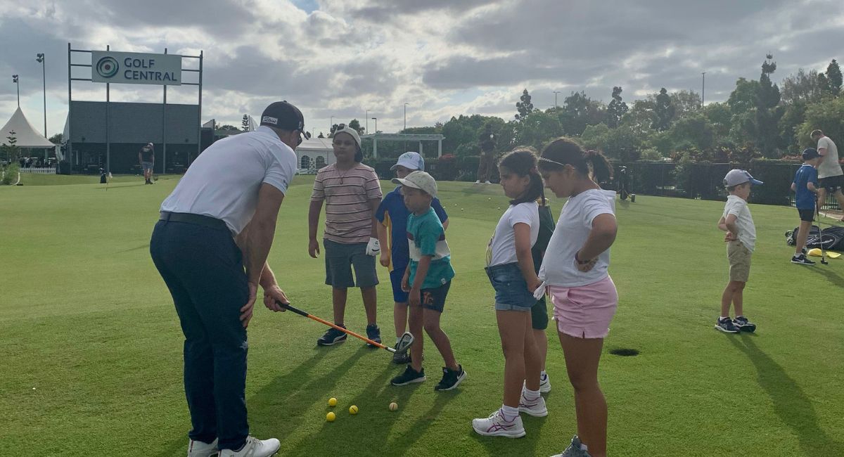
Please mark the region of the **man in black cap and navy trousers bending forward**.
POLYGON ((149 251, 185 334, 188 456, 219 448, 220 457, 262 457, 279 449, 278 439, 249 436, 246 325, 259 284, 268 309, 289 303, 266 261, 304 130, 294 105, 269 105, 255 132, 200 154, 161 204, 149 251))

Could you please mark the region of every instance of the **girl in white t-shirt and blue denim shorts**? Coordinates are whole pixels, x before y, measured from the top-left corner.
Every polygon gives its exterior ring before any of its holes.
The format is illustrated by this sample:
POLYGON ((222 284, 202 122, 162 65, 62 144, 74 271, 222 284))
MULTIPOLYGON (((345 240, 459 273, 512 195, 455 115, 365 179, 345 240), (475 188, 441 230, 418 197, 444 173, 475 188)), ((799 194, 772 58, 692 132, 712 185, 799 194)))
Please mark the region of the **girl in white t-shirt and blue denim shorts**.
POLYGON ((539 233, 537 200, 544 201, 537 153, 518 148, 498 164, 501 187, 511 198, 487 248, 486 272, 495 288, 495 317, 504 351, 504 401, 490 417, 472 421, 475 432, 518 438, 525 435, 519 412, 548 415, 539 395, 542 361, 533 339, 531 307, 540 281, 533 268, 531 247, 539 233), (522 389, 522 386, 524 388, 522 389))

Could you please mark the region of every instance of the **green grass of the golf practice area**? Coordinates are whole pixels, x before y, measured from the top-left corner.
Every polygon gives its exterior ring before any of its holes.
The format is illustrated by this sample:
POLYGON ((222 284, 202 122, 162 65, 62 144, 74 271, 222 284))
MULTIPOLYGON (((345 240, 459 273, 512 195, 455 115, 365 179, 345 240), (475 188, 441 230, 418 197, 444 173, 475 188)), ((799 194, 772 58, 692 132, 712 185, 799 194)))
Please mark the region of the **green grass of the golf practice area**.
MULTIPOLYGON (((152 186, 121 177, 109 191, 89 178, 33 176, 30 185, 0 188, 0 454, 184 455, 182 336, 148 251, 176 177, 152 186)), ((285 198, 269 261, 295 304, 329 317, 322 259, 306 252, 311 180, 297 177, 285 198)), ((442 322, 467 381, 436 394, 441 359, 429 345, 432 379, 392 387, 401 368, 386 352, 352 340, 318 348, 322 325, 257 309, 249 327, 250 424, 258 437, 280 438, 281 454, 550 455, 575 433, 553 328, 549 417, 525 418, 527 437, 517 440, 471 431, 473 417, 501 402, 503 356, 483 259, 506 198, 498 186, 440 186, 457 271, 442 322), (328 423, 332 396, 338 419, 328 423), (390 401, 398 412, 387 411, 390 401), (351 404, 357 416, 346 412, 351 404)), ((729 336, 712 329, 728 272, 715 227, 722 202, 638 196, 619 203, 610 272, 620 304, 600 368, 610 454, 844 454, 844 260, 789 264, 782 234, 797 224, 796 212, 751 211, 759 239, 745 307, 759 330, 729 336), (621 358, 609 354, 614 348, 641 354, 621 358)), ((379 320, 389 336, 392 296, 387 273, 379 275, 379 320)), ((362 331, 360 296, 349 297, 347 324, 362 331)))

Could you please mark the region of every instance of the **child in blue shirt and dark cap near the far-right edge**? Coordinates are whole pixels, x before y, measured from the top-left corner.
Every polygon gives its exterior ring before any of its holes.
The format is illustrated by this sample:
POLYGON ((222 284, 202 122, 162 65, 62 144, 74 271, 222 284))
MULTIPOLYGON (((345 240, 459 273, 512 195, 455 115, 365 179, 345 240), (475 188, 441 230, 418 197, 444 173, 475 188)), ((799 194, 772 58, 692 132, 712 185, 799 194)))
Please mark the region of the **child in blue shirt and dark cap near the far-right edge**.
POLYGON ((806 239, 809 237, 809 230, 812 229, 814 212, 817 208, 816 194, 818 193, 818 170, 820 154, 814 148, 803 150, 803 166, 797 170, 792 183, 792 191, 797 193, 794 198, 794 206, 800 213, 800 228, 797 232, 797 243, 794 244, 794 256, 792 263, 799 265, 814 265, 803 254, 806 246, 806 239))

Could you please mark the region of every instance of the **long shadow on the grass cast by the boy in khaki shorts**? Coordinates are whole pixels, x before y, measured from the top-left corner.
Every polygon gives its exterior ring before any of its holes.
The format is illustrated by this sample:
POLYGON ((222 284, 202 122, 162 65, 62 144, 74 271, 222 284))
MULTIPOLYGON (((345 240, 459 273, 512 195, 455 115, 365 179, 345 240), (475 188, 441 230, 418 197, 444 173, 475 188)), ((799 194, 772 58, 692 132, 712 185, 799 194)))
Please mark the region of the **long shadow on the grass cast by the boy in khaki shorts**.
POLYGON ((754 336, 728 337, 744 352, 759 374, 759 385, 774 404, 774 412, 798 436, 807 455, 844 455, 844 445, 833 441, 818 424, 812 401, 782 367, 756 346, 754 336))

